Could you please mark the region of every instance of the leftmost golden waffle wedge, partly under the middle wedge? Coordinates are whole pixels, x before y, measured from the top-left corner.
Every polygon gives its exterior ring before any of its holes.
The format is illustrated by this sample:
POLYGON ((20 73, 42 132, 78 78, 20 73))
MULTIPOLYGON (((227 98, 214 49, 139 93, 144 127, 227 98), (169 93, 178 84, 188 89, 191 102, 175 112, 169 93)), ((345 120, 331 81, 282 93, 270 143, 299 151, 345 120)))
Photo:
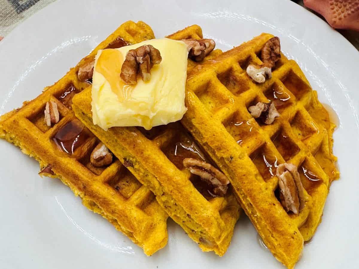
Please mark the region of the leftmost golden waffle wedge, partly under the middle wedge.
POLYGON ((72 97, 87 88, 79 81, 81 65, 92 61, 99 49, 121 47, 154 38, 144 22, 123 23, 62 79, 47 87, 36 99, 1 117, 1 138, 19 146, 40 164, 40 175, 60 178, 90 210, 101 214, 117 230, 151 255, 167 243, 168 215, 153 193, 114 159, 104 167, 90 162, 98 139, 75 118, 72 97), (48 127, 44 121, 45 104, 57 104, 60 121, 48 127))

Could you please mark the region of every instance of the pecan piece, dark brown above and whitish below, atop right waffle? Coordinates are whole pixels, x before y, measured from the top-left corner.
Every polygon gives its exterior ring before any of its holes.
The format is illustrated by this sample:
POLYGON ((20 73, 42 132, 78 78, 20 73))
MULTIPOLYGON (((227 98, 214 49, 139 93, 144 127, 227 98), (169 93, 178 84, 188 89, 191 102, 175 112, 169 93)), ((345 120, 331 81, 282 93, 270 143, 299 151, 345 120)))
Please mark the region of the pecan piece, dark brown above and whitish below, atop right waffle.
POLYGON ((272 77, 272 67, 280 58, 280 41, 278 37, 269 39, 261 50, 262 65, 248 65, 247 74, 257 83, 264 83, 266 75, 272 77))

